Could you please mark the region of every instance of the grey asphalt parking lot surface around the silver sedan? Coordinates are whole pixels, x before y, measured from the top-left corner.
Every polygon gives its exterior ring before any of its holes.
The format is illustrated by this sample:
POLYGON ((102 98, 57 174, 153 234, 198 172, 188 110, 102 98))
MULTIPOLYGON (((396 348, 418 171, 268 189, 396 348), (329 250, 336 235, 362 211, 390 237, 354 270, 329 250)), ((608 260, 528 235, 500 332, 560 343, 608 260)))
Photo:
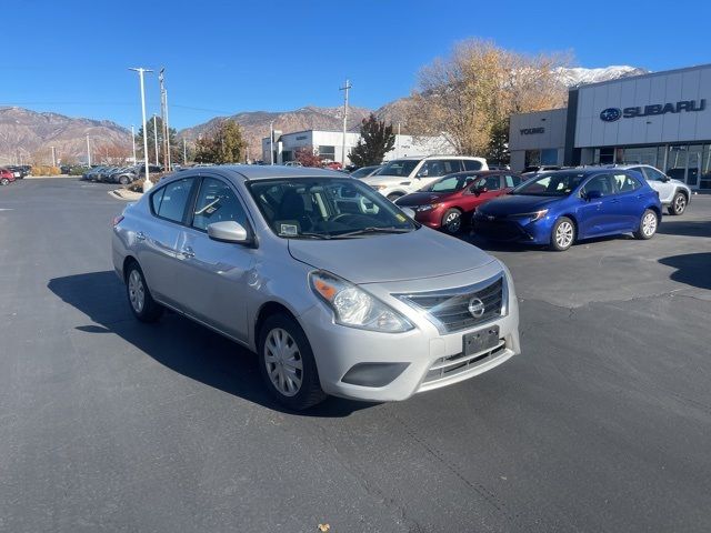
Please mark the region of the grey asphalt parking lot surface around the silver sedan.
POLYGON ((132 319, 109 188, 0 189, 0 531, 711 530, 711 197, 650 241, 487 247, 522 355, 292 414, 236 344, 132 319))

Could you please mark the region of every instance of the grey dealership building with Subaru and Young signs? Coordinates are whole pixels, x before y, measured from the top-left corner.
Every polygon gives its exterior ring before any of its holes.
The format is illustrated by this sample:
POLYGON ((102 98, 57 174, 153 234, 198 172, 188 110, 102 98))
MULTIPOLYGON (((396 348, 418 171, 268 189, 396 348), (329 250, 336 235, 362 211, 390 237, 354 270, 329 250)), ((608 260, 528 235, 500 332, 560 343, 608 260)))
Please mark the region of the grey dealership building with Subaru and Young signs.
POLYGON ((643 163, 711 190, 711 64, 571 89, 567 109, 511 117, 511 168, 643 163))

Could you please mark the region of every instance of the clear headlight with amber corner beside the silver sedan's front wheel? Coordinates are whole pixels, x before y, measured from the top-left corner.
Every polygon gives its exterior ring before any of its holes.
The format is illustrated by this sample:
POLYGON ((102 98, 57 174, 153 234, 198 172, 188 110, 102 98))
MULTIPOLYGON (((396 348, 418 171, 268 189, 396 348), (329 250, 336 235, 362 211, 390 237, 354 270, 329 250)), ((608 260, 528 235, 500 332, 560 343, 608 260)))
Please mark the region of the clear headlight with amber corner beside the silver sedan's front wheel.
POLYGON ((309 282, 313 292, 333 310, 336 322, 341 325, 388 333, 414 328, 395 310, 329 272, 311 272, 309 282))

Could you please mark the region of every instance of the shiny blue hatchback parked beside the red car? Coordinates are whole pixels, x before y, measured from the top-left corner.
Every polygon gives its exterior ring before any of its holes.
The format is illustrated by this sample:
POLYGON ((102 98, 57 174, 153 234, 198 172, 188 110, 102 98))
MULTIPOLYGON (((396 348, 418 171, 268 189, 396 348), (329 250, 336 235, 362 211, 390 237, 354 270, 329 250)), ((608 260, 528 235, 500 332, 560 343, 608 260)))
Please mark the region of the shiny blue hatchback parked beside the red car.
POLYGON ((661 218, 657 191, 638 172, 583 168, 535 175, 478 208, 473 225, 485 239, 563 251, 593 237, 633 233, 650 239, 661 218))

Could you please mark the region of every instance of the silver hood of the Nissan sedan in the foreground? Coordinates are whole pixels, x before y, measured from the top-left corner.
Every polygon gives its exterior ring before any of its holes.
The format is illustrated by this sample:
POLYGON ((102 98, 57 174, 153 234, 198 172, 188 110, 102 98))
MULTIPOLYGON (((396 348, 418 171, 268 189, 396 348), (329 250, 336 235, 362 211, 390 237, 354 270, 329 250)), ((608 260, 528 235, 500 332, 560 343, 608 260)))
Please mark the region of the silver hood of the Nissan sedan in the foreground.
POLYGON ((438 278, 493 261, 477 247, 429 228, 354 239, 290 239, 289 253, 298 261, 352 283, 438 278))

